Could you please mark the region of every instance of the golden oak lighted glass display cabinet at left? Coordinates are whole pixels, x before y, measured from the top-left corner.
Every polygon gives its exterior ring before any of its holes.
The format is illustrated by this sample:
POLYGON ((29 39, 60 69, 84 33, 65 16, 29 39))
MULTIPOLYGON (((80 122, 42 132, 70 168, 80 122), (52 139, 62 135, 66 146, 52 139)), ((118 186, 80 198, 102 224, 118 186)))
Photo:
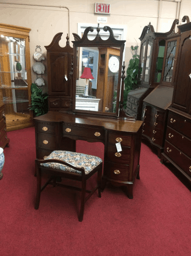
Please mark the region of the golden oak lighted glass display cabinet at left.
POLYGON ((0 104, 7 131, 34 125, 31 104, 30 29, 0 24, 0 104))

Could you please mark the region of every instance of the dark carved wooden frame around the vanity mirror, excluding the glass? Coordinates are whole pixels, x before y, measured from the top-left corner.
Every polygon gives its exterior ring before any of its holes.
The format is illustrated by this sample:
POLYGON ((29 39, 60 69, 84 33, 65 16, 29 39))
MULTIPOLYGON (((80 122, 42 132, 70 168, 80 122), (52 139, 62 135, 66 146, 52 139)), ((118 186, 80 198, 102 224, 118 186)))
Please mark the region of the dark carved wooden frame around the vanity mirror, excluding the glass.
POLYGON ((73 33, 74 40, 73 42, 73 51, 74 51, 74 63, 73 63, 73 107, 72 112, 73 113, 88 113, 92 115, 102 115, 102 116, 113 116, 118 117, 119 116, 119 99, 120 99, 120 93, 121 93, 121 73, 122 73, 122 61, 123 61, 123 52, 124 52, 124 45, 126 40, 117 40, 115 39, 113 35, 113 31, 110 27, 104 26, 103 30, 109 31, 109 38, 107 40, 101 39, 101 36, 99 35, 100 27, 98 24, 97 27, 97 35, 93 40, 88 39, 88 33, 93 32, 94 29, 92 27, 87 27, 84 30, 84 34, 82 38, 78 35, 73 33), (116 102, 116 111, 114 113, 110 112, 101 112, 101 111, 90 111, 90 110, 79 110, 75 109, 76 105, 76 78, 77 78, 77 69, 75 68, 77 66, 77 48, 78 47, 118 47, 120 48, 120 60, 119 60, 119 71, 118 71, 118 89, 117 89, 117 102, 116 102))

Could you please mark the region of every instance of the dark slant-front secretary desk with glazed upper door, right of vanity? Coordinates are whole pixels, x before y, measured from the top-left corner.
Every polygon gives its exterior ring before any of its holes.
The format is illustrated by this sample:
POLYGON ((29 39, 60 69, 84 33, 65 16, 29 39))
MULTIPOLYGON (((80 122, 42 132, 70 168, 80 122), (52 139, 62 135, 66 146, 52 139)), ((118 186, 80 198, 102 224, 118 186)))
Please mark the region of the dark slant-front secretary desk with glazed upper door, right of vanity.
MULTIPOLYGON (((164 33, 162 45, 159 44, 155 78, 160 83, 143 100, 142 138, 157 149, 160 158, 164 148, 165 131, 168 117, 168 107, 172 102, 174 77, 177 64, 177 56, 180 44, 180 31, 175 33, 175 25, 178 20, 174 20, 171 30, 164 33), (159 72, 160 71, 160 72, 159 72)), ((155 63, 154 63, 155 65, 155 63)), ((154 72, 154 71, 153 71, 154 72)))

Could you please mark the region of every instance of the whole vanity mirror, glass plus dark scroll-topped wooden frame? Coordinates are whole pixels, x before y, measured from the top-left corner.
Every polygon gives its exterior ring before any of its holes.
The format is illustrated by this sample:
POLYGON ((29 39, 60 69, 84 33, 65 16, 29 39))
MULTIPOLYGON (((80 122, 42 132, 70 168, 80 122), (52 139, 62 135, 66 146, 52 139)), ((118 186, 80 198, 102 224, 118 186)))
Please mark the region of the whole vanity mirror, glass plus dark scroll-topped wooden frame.
POLYGON ((124 40, 114 38, 110 27, 107 40, 97 35, 88 39, 92 27, 84 30, 82 38, 73 33, 74 73, 73 73, 73 112, 119 116, 121 91, 121 71, 124 40))

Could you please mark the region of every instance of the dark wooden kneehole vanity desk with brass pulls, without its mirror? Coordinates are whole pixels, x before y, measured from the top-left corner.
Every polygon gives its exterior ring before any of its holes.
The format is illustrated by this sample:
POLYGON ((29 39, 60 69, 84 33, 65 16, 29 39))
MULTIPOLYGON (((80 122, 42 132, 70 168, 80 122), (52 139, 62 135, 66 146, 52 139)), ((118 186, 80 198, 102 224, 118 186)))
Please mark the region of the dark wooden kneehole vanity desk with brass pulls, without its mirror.
POLYGON ((103 188, 110 181, 124 186, 127 196, 133 198, 133 184, 136 177, 139 179, 142 121, 51 111, 34 120, 37 158, 43 159, 56 149, 75 151, 76 140, 102 142, 103 188))

